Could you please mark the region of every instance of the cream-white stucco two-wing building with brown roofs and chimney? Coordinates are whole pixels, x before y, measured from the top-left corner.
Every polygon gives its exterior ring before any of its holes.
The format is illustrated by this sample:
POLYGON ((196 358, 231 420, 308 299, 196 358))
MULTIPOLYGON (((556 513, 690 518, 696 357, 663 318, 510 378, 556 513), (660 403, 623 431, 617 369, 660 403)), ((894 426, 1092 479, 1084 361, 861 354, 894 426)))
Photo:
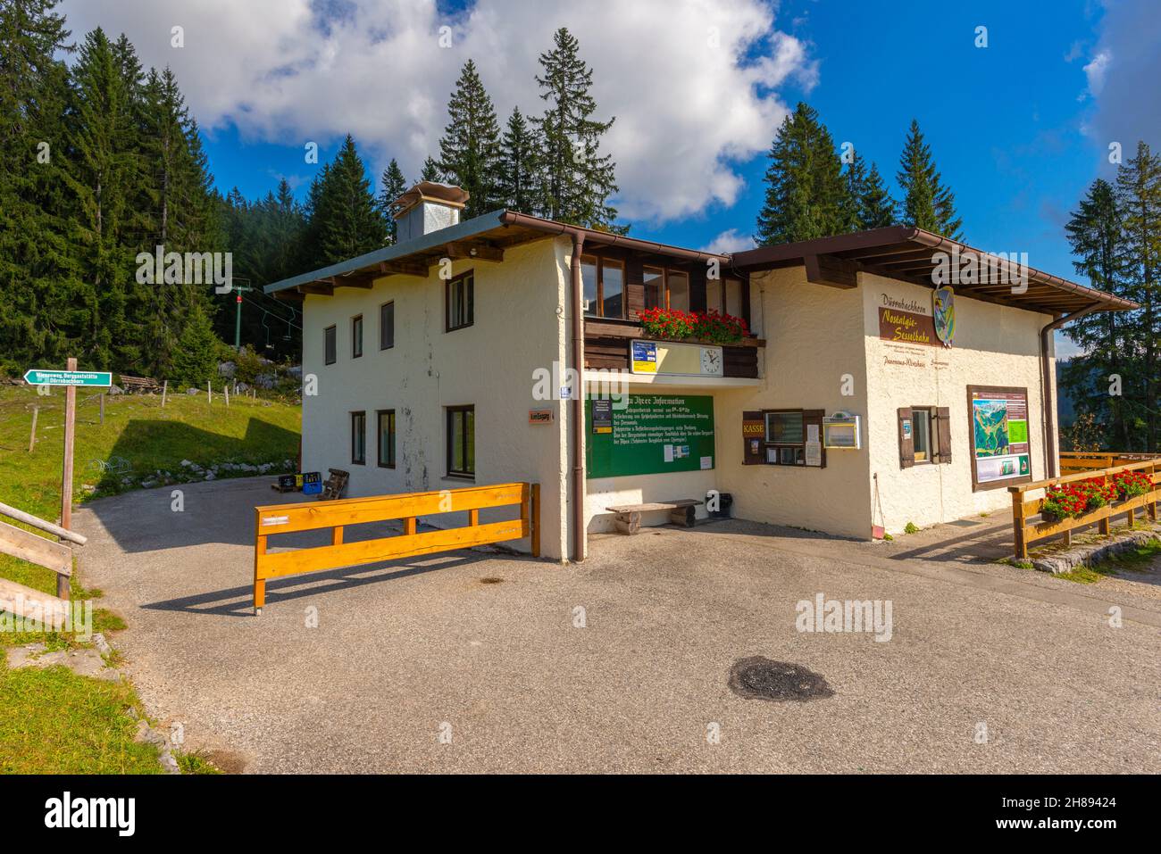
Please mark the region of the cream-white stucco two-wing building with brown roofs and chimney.
POLYGON ((1055 473, 1052 330, 1134 307, 917 229, 730 256, 460 222, 464 198, 420 183, 406 239, 266 289, 303 303, 302 468, 349 471, 353 497, 539 483, 546 557, 583 557, 608 507, 711 491, 860 538, 1005 507, 1000 487, 1055 473), (750 334, 651 338, 651 307, 750 334))

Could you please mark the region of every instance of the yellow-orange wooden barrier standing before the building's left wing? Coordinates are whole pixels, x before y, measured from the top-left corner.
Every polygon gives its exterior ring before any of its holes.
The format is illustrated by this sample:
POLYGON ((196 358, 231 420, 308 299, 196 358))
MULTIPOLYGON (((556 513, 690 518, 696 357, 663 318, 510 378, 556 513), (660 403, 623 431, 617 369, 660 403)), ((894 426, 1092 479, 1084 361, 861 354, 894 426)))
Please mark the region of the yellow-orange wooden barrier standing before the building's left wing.
POLYGON ((409 492, 399 495, 347 498, 318 504, 281 504, 254 508, 254 613, 266 605, 266 581, 302 572, 337 570, 381 560, 392 560, 507 540, 532 541, 532 556, 540 557, 540 484, 498 484, 468 486, 439 492, 409 492), (479 511, 489 507, 519 506, 520 518, 503 522, 479 522, 479 511), (418 516, 467 512, 462 528, 416 533, 418 516), (377 540, 342 542, 349 524, 402 520, 403 533, 377 540), (272 534, 331 529, 331 544, 291 551, 267 551, 272 534))

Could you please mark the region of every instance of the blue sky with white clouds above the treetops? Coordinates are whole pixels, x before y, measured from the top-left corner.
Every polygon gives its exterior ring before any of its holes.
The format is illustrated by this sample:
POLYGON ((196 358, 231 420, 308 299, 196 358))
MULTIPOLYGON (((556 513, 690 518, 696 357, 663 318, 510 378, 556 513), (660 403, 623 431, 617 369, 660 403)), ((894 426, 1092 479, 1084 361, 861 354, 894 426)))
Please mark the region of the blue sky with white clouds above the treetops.
POLYGON ((894 184, 913 117, 954 190, 968 244, 1026 252, 1073 277, 1062 225, 1111 176, 1108 145, 1161 146, 1155 3, 886 0, 64 0, 79 35, 125 31, 172 65, 217 183, 247 197, 287 176, 300 196, 348 130, 375 175, 437 151, 473 57, 502 118, 539 109, 536 55, 568 26, 618 122, 619 207, 636 237, 748 244, 765 151, 806 100, 894 184), (171 28, 183 27, 182 49, 171 28), (975 46, 987 27, 986 48, 975 46), (447 28, 447 44, 437 45, 447 28), (713 45, 707 46, 707 31, 713 45))

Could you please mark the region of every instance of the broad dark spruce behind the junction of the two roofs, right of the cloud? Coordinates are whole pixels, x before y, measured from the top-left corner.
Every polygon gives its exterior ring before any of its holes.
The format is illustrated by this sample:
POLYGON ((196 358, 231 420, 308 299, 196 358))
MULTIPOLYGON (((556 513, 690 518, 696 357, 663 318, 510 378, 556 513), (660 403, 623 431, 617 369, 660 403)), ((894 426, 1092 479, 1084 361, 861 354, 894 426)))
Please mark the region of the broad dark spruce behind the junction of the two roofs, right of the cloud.
POLYGON ((766 193, 755 240, 759 246, 812 240, 850 230, 851 194, 819 113, 799 103, 770 149, 766 193))

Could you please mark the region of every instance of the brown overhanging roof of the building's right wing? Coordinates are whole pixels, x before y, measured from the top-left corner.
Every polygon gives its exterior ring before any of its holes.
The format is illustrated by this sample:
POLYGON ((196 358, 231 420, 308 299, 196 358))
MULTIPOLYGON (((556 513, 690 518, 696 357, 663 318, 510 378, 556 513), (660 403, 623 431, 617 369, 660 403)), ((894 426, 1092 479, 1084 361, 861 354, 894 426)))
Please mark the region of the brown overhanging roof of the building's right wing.
MULTIPOLYGON (((853 234, 838 234, 816 240, 802 240, 779 246, 762 246, 737 252, 731 256, 735 269, 757 273, 779 267, 805 266, 807 280, 836 288, 856 287, 859 270, 874 273, 904 282, 936 287, 932 272, 939 261, 937 253, 947 255, 974 253, 981 260, 995 263, 995 268, 1016 280, 1018 267, 991 253, 973 248, 951 238, 933 234, 923 229, 892 225, 853 234)), ((1095 288, 1086 288, 1050 273, 1027 267, 1026 290, 1019 284, 1014 288, 1005 282, 979 284, 954 284, 958 295, 983 302, 1014 305, 1045 314, 1069 314, 1086 309, 1093 311, 1128 311, 1141 307, 1138 303, 1106 294, 1095 288)))

